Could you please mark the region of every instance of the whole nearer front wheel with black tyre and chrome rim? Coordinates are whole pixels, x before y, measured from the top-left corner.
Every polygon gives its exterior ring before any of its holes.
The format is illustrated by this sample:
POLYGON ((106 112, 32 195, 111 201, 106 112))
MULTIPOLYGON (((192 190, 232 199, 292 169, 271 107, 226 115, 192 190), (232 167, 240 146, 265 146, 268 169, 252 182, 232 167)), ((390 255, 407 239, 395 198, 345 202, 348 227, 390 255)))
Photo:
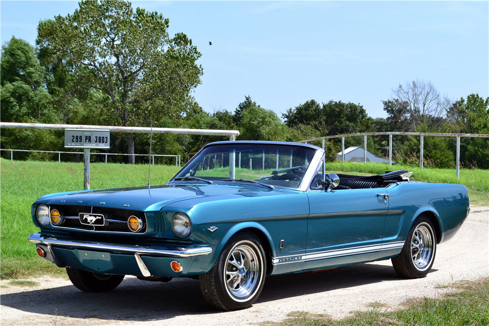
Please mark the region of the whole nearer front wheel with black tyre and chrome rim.
POLYGON ((251 232, 233 236, 211 270, 200 276, 205 300, 222 310, 250 307, 265 283, 265 252, 251 232))

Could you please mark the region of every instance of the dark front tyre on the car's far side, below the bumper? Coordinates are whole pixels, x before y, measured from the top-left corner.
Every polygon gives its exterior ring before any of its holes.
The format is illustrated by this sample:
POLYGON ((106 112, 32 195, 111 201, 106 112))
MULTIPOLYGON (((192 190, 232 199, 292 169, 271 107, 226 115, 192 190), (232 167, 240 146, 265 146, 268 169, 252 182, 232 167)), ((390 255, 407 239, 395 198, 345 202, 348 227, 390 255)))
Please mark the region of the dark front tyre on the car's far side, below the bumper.
POLYGON ((66 272, 71 283, 85 292, 111 291, 124 279, 124 275, 91 273, 73 267, 67 267, 66 272))

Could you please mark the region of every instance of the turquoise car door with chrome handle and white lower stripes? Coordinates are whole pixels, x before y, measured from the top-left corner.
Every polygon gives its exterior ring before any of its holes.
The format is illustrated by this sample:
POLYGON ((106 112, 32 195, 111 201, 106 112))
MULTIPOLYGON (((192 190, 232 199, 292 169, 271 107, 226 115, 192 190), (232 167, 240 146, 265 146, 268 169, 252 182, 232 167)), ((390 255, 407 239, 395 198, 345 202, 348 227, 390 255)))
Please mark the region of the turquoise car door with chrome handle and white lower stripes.
POLYGON ((380 250, 389 202, 386 189, 309 191, 306 269, 365 261, 380 250))

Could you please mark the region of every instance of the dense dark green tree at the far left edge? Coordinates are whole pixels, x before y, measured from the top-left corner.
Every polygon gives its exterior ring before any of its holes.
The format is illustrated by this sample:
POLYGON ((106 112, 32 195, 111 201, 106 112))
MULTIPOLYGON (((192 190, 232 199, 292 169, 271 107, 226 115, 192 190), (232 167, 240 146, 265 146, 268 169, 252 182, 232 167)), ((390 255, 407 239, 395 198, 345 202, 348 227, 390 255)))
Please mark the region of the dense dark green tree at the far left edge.
MULTIPOLYGON (((1 49, 0 116, 5 122, 59 123, 52 107, 51 96, 44 88, 44 70, 34 48, 15 36, 1 49)), ((59 137, 52 130, 2 129, 3 148, 21 150, 52 150, 59 147, 59 137)), ((16 156, 50 155, 16 153, 16 156)))

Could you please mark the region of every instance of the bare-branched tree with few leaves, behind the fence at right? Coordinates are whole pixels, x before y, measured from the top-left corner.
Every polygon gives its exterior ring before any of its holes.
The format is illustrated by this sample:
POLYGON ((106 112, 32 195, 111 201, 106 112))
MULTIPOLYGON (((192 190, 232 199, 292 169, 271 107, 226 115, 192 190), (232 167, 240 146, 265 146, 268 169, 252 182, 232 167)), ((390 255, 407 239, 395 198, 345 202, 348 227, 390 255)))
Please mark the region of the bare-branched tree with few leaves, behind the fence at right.
POLYGON ((384 110, 392 121, 403 131, 413 131, 421 123, 439 126, 451 101, 442 98, 436 87, 430 82, 415 80, 399 84, 392 89, 391 100, 382 101, 384 110))

